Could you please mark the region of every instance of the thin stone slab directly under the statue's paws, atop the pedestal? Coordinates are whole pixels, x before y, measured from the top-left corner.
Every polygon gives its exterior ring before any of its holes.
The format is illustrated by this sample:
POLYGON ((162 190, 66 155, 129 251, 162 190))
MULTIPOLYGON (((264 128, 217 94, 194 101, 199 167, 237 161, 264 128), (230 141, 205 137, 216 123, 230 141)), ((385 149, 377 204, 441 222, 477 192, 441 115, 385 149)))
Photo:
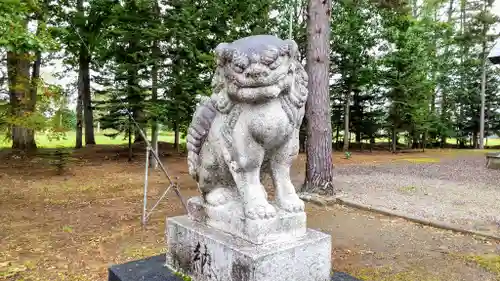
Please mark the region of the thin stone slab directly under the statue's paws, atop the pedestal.
POLYGON ((272 219, 251 220, 245 217, 240 202, 209 206, 201 197, 188 200, 188 215, 197 222, 208 224, 253 244, 298 239, 306 234, 306 213, 289 213, 276 207, 272 219))

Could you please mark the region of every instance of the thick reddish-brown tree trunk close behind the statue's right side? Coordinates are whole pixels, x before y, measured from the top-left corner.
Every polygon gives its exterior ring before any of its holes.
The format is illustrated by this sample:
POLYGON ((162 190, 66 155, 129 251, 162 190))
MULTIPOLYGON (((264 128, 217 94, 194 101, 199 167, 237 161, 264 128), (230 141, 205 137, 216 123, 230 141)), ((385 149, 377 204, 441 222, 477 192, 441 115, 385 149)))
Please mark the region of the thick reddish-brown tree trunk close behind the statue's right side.
POLYGON ((334 194, 330 115, 331 0, 309 0, 307 22, 307 163, 302 190, 334 194))

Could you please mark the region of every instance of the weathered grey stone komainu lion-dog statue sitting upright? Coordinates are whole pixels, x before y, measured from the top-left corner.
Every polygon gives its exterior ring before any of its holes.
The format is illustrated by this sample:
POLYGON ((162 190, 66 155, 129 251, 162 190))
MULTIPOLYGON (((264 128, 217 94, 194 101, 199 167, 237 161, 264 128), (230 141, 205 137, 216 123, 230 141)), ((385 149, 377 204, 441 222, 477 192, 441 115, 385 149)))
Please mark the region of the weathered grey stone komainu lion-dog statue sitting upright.
POLYGON ((238 201, 246 217, 272 218, 260 181, 269 173, 276 205, 302 212, 290 180, 308 94, 297 44, 257 35, 219 44, 215 53, 213 94, 198 105, 187 137, 189 173, 205 204, 238 201))

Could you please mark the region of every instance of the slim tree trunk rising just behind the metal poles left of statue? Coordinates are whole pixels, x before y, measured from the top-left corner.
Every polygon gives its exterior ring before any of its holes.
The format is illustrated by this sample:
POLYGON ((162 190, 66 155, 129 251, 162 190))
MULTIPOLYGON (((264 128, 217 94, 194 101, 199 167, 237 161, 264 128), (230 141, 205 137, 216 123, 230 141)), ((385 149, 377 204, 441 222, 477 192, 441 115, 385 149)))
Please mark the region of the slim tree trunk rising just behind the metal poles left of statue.
MULTIPOLYGON (((157 20, 160 17, 160 8, 158 6, 158 1, 155 2, 153 13, 157 16, 157 20)), ((160 59, 160 48, 158 47, 158 41, 153 42, 153 48, 151 50, 153 54, 153 66, 151 68, 151 102, 156 104, 158 101, 158 60, 160 59)), ((160 130, 158 128, 158 118, 153 116, 153 124, 151 126, 151 146, 153 151, 158 155, 158 135, 160 130)), ((153 169, 158 169, 158 161, 154 157, 151 157, 151 167, 153 169)))

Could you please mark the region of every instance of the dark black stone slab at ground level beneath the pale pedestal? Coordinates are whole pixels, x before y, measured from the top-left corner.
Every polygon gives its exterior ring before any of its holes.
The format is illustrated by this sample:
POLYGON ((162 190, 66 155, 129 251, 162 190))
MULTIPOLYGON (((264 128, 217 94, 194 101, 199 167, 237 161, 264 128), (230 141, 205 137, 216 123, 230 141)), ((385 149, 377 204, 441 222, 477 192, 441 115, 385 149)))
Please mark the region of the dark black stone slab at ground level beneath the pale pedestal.
MULTIPOLYGON (((335 272, 331 280, 360 281, 343 272, 335 272)), ((111 266, 108 281, 182 281, 182 278, 165 267, 165 255, 158 255, 111 266)))

